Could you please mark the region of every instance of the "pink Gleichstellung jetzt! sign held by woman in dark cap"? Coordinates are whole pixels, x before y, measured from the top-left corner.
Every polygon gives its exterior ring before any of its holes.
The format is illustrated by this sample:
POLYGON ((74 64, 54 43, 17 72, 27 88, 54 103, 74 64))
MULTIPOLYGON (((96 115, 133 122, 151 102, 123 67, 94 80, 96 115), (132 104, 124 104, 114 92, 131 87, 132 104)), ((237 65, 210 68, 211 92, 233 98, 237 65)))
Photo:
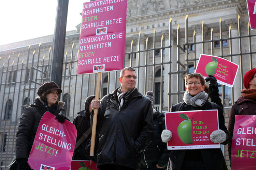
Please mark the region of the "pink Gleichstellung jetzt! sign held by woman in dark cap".
POLYGON ((34 170, 70 170, 75 148, 76 128, 65 120, 59 123, 53 114, 45 112, 35 135, 28 164, 34 170))

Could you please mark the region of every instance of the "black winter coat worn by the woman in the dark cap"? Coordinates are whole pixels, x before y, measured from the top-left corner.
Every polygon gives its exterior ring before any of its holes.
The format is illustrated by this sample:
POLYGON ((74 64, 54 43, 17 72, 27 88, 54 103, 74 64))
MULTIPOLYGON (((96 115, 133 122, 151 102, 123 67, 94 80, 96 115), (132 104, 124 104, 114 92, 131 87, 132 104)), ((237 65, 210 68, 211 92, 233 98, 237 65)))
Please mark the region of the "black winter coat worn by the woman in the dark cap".
MULTIPOLYGON (((65 111, 62 107, 64 104, 64 102, 59 102, 59 109, 54 113, 55 116, 61 111, 65 111)), ((16 135, 16 159, 28 159, 39 123, 46 111, 40 97, 34 100, 34 104, 30 104, 29 107, 24 109, 20 116, 16 135)))

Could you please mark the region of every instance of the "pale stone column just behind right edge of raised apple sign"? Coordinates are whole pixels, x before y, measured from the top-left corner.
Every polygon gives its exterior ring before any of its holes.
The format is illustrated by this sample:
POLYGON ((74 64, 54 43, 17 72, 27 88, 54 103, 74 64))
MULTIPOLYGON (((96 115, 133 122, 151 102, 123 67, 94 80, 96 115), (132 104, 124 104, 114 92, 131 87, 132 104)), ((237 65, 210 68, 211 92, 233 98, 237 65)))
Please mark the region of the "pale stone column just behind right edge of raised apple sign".
MULTIPOLYGON (((230 19, 225 21, 227 27, 231 26, 231 36, 238 37, 238 21, 237 19, 230 19)), ((232 54, 239 53, 239 39, 232 39, 232 54)), ((236 80, 234 81, 233 89, 234 89, 234 101, 237 101, 239 97, 241 97, 241 75, 240 75, 240 56, 233 56, 233 63, 239 65, 239 70, 237 73, 236 80)))

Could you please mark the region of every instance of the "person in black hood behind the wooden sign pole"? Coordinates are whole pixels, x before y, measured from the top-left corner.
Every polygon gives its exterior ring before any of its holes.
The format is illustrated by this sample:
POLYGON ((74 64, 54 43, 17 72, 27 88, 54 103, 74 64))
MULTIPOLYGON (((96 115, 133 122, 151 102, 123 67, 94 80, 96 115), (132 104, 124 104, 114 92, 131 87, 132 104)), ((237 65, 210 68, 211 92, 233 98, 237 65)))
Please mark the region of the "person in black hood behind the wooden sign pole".
MULTIPOLYGON (((91 116, 91 101, 95 100, 95 96, 88 96, 85 100, 84 108, 78 112, 77 116, 73 120, 73 124, 76 127, 77 136, 76 142, 83 136, 83 134, 88 130, 90 125, 90 116, 91 116)), ((81 145, 76 149, 74 160, 90 160, 84 154, 87 140, 91 138, 91 134, 81 143, 81 145)))

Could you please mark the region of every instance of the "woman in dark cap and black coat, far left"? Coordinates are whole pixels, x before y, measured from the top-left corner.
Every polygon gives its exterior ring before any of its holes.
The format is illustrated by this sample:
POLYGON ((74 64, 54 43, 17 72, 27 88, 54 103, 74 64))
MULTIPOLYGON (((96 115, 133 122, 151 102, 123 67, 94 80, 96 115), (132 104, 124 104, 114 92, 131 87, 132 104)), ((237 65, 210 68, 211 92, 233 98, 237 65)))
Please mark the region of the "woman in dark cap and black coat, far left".
POLYGON ((44 83, 37 91, 38 97, 34 100, 34 104, 26 107, 22 116, 20 116, 16 135, 16 162, 18 163, 18 170, 31 169, 27 163, 29 153, 39 123, 46 111, 55 115, 60 123, 63 123, 65 119, 69 120, 66 116, 59 114, 65 110, 62 107, 65 103, 57 100, 61 92, 62 90, 55 82, 44 83))

